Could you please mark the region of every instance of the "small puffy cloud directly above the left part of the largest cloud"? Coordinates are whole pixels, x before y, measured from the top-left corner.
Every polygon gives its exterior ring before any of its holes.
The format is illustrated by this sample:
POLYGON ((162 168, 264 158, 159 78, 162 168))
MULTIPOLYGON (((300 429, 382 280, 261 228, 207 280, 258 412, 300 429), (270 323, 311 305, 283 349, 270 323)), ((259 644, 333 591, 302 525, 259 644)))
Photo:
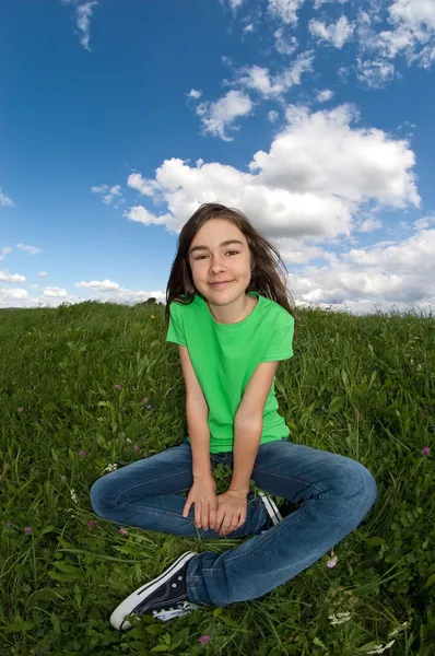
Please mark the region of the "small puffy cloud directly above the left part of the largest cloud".
POLYGON ((250 97, 242 91, 232 90, 215 103, 200 103, 196 113, 201 118, 204 133, 219 137, 223 141, 233 141, 226 130, 236 130, 235 120, 252 110, 250 97))

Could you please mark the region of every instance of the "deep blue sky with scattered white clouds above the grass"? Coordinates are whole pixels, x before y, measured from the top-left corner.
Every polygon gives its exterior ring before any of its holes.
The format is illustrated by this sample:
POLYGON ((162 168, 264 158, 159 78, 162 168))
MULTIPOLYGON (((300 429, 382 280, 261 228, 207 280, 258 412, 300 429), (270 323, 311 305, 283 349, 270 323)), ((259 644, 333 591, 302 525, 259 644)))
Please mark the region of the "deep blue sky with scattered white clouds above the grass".
POLYGON ((0 307, 164 301, 202 202, 296 305, 435 303, 435 0, 3 0, 0 307))

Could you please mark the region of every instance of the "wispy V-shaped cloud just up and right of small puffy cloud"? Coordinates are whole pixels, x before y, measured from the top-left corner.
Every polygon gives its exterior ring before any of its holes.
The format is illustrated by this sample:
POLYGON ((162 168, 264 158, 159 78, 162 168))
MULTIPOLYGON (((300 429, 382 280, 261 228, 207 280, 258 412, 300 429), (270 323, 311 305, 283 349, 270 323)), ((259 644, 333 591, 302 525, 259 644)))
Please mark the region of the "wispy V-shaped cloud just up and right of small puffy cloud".
POLYGON ((279 97, 295 84, 301 84, 303 73, 313 71, 313 59, 310 50, 301 52, 290 68, 275 75, 267 68, 251 66, 243 69, 237 83, 256 91, 264 98, 279 97))

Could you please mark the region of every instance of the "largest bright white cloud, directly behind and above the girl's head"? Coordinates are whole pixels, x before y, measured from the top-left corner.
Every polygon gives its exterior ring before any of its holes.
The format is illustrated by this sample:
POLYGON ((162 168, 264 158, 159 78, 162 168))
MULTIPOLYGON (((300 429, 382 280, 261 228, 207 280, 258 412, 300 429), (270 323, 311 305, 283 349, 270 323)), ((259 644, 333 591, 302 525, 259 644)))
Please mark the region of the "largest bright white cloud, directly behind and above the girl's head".
POLYGON ((202 202, 221 202, 239 208, 270 236, 321 241, 349 235, 353 218, 367 206, 419 206, 408 141, 356 128, 357 119, 349 105, 313 114, 290 106, 287 125, 269 152, 254 155, 249 173, 216 162, 189 166, 165 160, 155 179, 134 174, 133 181, 171 211, 157 215, 139 206, 125 215, 176 233, 202 202))

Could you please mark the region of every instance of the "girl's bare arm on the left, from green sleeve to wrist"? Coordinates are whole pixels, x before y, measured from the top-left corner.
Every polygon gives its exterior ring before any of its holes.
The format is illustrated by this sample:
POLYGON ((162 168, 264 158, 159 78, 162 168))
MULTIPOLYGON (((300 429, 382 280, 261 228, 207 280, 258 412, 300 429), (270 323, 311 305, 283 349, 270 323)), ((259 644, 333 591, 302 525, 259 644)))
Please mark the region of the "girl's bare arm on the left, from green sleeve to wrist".
POLYGON ((193 371, 187 347, 179 345, 179 358, 186 382, 186 417, 192 452, 193 480, 211 473, 209 407, 193 371))

